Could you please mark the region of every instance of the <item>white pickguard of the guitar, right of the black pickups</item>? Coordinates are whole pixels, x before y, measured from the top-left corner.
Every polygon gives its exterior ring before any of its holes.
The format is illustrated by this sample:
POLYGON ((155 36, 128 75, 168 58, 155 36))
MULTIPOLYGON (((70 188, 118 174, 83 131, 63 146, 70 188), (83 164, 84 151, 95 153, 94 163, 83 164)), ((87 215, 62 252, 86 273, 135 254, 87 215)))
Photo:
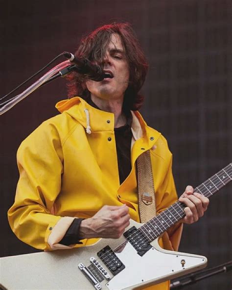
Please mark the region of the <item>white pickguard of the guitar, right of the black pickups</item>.
POLYGON ((184 275, 196 267, 199 269, 206 266, 207 259, 203 256, 163 251, 158 239, 152 244, 153 247, 142 257, 130 243, 116 254, 125 269, 106 284, 109 290, 135 289, 149 283, 154 285, 184 275))

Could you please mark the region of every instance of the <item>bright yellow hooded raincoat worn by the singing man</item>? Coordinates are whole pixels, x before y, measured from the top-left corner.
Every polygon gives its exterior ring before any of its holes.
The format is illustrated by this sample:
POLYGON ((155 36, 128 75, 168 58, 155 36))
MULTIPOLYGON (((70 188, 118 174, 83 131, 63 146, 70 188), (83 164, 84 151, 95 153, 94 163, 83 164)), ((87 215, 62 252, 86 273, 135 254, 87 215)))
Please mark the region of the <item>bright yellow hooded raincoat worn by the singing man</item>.
MULTIPOLYGON (((127 204, 131 218, 139 222, 135 162, 145 150, 151 152, 157 212, 177 200, 167 142, 138 111, 132 112, 132 170, 120 185, 114 114, 93 108, 79 97, 56 107, 62 114, 32 132, 17 153, 20 179, 8 218, 23 242, 46 251, 92 244, 97 239, 71 246, 59 241, 75 217, 92 217, 103 205, 127 204)), ((161 246, 177 250, 181 231, 181 225, 169 229, 161 246)), ((168 282, 149 289, 168 289, 168 282)))

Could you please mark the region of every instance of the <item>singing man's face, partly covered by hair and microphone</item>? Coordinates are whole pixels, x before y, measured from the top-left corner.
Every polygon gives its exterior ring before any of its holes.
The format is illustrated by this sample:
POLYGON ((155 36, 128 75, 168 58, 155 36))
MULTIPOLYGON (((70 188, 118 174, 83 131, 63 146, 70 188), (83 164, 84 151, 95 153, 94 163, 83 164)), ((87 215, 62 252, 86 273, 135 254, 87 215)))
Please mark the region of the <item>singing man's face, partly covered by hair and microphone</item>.
POLYGON ((128 87, 129 65, 125 51, 118 34, 112 34, 111 41, 106 50, 104 71, 113 78, 102 81, 87 80, 86 85, 91 95, 104 100, 123 99, 128 87))

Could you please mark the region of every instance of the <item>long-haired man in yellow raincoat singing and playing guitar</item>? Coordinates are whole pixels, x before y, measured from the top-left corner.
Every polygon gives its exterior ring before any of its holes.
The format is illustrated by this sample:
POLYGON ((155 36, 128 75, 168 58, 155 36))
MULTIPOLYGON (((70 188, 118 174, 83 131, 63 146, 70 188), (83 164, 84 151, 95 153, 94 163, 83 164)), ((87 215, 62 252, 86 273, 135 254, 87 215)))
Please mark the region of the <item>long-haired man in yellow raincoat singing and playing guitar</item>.
MULTIPOLYGON (((17 155, 20 180, 9 222, 17 237, 43 250, 118 238, 130 218, 139 221, 136 160, 146 150, 157 212, 177 200, 166 140, 137 111, 147 64, 131 26, 99 27, 76 56, 98 63, 112 78, 95 82, 72 74, 71 99, 56 106, 62 114, 32 132, 17 155)), ((183 223, 198 220, 209 204, 191 186, 180 201, 187 206, 183 223)), ((174 225, 161 246, 177 250, 181 231, 182 223, 174 225)), ((168 289, 168 282, 153 289, 168 289)))

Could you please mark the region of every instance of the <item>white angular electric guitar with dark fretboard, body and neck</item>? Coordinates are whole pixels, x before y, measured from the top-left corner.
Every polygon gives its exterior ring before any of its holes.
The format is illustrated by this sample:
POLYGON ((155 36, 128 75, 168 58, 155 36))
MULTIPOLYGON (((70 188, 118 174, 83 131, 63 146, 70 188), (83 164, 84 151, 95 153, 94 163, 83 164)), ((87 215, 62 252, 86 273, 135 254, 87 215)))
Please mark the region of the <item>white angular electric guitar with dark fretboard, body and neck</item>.
MULTIPOLYGON (((194 191, 212 196, 232 180, 232 163, 194 191)), ((119 239, 99 239, 78 249, 0 259, 0 283, 8 290, 143 289, 203 268, 204 256, 163 250, 158 238, 185 216, 176 202, 145 224, 133 220, 119 239)))

